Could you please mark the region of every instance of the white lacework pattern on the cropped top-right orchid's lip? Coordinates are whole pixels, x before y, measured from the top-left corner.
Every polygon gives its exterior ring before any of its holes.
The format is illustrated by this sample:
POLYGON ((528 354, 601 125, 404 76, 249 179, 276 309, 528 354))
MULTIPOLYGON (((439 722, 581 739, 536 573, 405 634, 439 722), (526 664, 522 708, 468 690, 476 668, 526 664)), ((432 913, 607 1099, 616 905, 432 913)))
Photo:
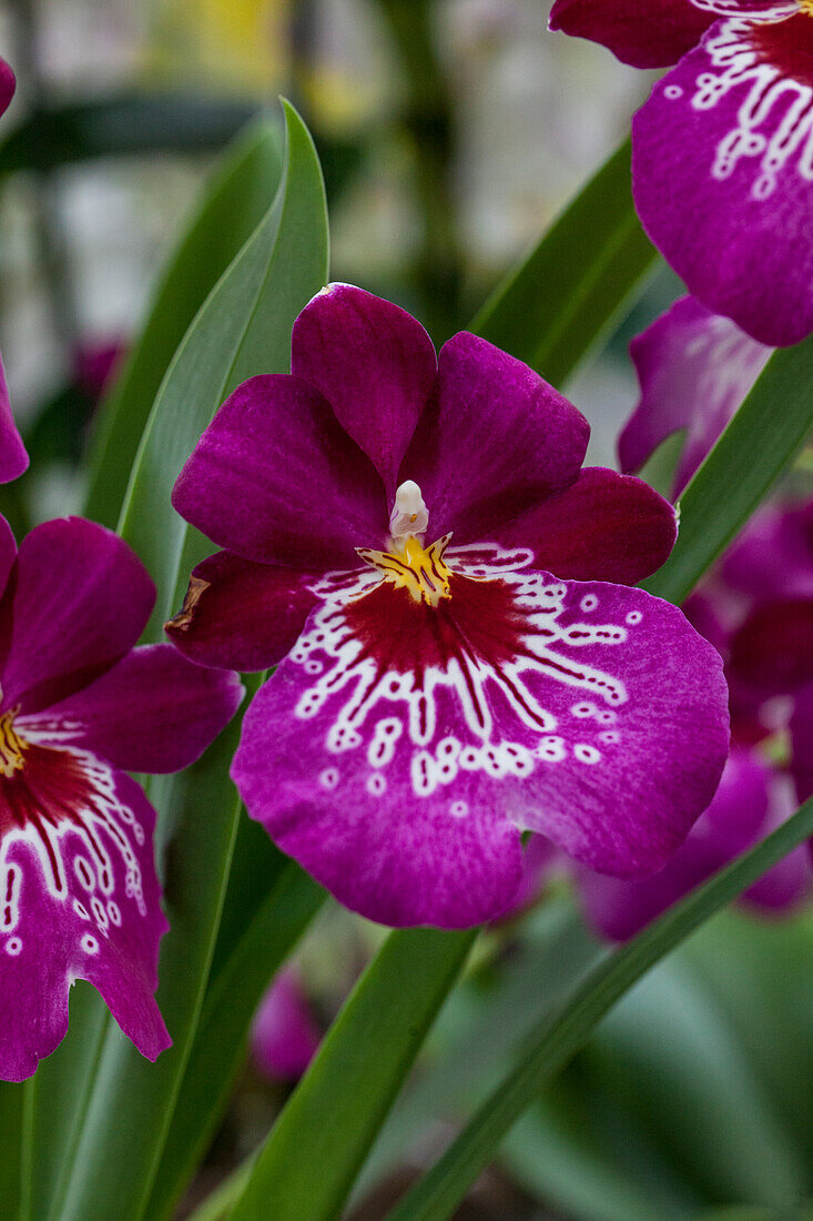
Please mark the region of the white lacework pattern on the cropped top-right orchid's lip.
MULTIPOLYGON (((736 11, 720 0, 693 0, 698 9, 713 12, 736 11)), ((796 170, 806 182, 813 181, 813 89, 801 81, 782 76, 779 67, 767 63, 753 44, 754 24, 782 21, 802 10, 797 4, 767 5, 762 13, 748 20, 732 17, 720 32, 704 44, 712 67, 697 77, 697 90, 691 99, 695 110, 713 110, 732 89, 750 84, 737 111, 736 126, 717 147, 712 176, 724 181, 734 173, 742 158, 759 158, 759 176, 751 187, 753 199, 768 199, 776 188, 776 178, 796 159, 796 170), (774 107, 778 115, 774 131, 758 128, 770 121, 774 107)), ((813 28, 813 27, 812 27, 813 28)), ((669 84, 664 96, 676 101, 682 88, 669 84)))

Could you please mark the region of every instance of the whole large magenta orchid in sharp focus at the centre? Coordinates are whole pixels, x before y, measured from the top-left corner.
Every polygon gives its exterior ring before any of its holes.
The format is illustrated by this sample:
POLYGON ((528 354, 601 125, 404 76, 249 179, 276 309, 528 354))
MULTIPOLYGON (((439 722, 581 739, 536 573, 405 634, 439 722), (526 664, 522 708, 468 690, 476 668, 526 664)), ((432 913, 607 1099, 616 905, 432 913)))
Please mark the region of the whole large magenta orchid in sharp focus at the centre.
POLYGON ((436 357, 361 289, 310 302, 292 369, 234 391, 173 493, 227 549, 170 637, 282 662, 232 768, 251 817, 394 926, 504 912, 525 828, 660 868, 728 751, 719 657, 626 584, 669 553, 671 507, 581 471, 587 422, 526 365, 465 332, 436 357))

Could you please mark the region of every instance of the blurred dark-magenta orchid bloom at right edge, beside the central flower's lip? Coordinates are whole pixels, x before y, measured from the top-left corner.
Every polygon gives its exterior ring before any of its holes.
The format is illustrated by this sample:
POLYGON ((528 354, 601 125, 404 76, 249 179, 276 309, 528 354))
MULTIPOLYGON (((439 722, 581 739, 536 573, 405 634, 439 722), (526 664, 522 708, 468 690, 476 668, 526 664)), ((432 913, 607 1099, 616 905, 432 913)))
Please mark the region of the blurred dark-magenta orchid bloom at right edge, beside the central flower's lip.
MULTIPOLYGON (((621 882, 579 871, 588 918, 614 940, 632 937, 813 792, 813 501, 763 509, 686 612, 726 661, 734 747, 712 805, 660 873, 621 882), (780 735, 787 739, 786 766, 759 745, 780 735)), ((785 915, 809 896, 812 882, 801 846, 750 886, 742 902, 785 915)))

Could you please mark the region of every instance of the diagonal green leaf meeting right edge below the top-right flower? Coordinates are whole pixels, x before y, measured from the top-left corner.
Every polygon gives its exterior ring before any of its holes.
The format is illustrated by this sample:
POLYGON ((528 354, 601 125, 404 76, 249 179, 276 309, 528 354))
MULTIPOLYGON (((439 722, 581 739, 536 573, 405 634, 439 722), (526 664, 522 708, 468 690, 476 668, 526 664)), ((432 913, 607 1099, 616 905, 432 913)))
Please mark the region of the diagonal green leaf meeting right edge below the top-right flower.
POLYGON ((680 501, 675 548, 645 590, 680 603, 793 460, 813 426, 813 338, 780 348, 680 501))

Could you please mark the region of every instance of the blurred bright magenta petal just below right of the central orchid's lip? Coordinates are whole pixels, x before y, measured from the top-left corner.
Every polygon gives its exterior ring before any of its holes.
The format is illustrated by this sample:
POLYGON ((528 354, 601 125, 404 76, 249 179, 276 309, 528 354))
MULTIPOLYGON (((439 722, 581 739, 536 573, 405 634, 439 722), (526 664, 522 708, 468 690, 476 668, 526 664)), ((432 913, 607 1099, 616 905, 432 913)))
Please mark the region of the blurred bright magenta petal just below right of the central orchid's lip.
POLYGON ((577 885, 591 924, 612 941, 635 937, 673 904, 765 834, 770 770, 748 751, 734 751, 720 786, 667 867, 626 882, 580 869, 577 885))

